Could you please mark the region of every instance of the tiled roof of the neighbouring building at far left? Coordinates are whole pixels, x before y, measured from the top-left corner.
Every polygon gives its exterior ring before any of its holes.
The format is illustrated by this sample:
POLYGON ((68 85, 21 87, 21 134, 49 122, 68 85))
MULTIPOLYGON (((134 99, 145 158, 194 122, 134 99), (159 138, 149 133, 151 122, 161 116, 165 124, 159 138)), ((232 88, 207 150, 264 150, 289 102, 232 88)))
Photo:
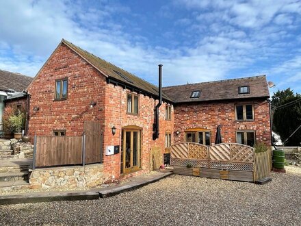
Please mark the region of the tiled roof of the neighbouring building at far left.
POLYGON ((34 78, 19 73, 0 70, 0 90, 21 92, 27 88, 32 79, 34 78))

